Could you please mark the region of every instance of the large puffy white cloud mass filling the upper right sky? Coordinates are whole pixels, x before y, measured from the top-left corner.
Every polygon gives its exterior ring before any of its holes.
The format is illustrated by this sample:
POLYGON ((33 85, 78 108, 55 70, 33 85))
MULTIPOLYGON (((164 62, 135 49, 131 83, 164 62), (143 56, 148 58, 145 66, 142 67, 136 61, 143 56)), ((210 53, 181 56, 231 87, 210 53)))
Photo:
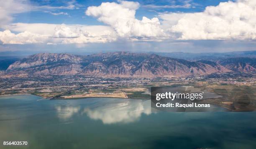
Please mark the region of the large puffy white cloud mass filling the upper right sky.
POLYGON ((208 6, 203 12, 159 15, 163 27, 180 40, 256 40, 256 1, 208 6))

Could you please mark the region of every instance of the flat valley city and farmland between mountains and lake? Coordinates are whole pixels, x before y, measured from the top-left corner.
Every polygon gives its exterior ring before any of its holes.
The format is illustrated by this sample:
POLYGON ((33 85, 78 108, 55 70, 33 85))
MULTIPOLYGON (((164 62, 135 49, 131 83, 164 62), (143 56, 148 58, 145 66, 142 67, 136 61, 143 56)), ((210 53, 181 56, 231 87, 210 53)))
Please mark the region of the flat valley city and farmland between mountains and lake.
POLYGON ((116 97, 150 99, 151 87, 193 86, 220 95, 200 103, 215 104, 233 111, 256 107, 256 73, 228 72, 186 77, 95 77, 87 75, 2 75, 0 95, 34 94, 44 99, 116 97))

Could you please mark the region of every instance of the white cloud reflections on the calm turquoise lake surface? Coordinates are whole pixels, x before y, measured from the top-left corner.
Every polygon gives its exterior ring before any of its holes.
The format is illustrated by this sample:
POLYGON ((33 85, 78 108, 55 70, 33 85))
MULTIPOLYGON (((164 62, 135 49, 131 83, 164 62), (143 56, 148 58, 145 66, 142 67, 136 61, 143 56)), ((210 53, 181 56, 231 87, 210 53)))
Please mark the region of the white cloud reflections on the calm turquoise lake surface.
POLYGON ((101 120, 104 124, 129 123, 138 120, 142 114, 151 114, 150 100, 139 99, 81 99, 87 104, 72 106, 56 106, 57 117, 68 120, 87 115, 90 119, 101 120), (97 101, 97 102, 95 102, 97 101))

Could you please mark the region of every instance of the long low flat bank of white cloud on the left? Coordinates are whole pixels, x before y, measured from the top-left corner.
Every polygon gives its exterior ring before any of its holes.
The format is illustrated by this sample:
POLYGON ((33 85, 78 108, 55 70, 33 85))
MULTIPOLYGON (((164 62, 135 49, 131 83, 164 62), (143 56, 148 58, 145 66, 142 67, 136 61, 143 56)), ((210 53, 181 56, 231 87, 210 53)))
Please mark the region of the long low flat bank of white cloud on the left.
POLYGON ((111 27, 102 25, 65 25, 65 24, 26 24, 14 23, 4 27, 0 32, 2 44, 85 44, 105 43, 116 40, 116 35, 111 27), (38 30, 44 28, 45 30, 38 30), (20 32, 12 33, 10 30, 20 32))

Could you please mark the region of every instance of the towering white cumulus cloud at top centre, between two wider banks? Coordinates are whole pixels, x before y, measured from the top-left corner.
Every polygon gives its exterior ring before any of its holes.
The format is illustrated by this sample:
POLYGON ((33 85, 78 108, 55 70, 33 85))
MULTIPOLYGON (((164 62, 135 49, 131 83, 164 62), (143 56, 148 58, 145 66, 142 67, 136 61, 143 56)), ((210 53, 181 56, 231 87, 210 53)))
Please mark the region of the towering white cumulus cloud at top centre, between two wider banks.
POLYGON ((165 34, 158 18, 135 18, 138 7, 138 2, 102 2, 100 6, 88 7, 85 14, 110 25, 120 37, 163 37, 165 34))

